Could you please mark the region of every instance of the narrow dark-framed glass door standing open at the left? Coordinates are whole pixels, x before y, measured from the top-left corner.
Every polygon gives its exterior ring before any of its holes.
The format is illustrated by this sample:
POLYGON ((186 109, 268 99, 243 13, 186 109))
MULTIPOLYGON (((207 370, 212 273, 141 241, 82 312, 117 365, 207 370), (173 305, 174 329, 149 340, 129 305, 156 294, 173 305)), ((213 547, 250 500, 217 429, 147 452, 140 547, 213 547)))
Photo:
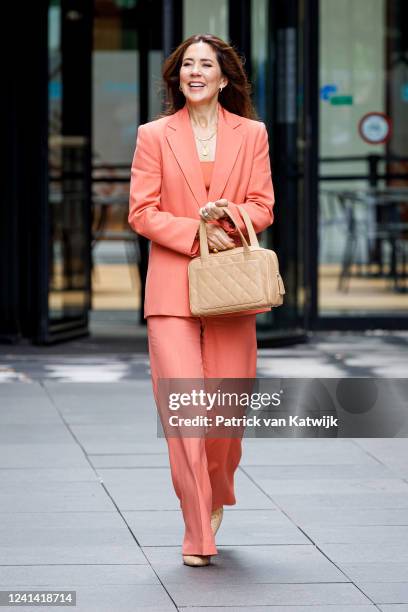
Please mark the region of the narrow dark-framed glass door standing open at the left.
POLYGON ((92 2, 48 7, 48 208, 39 341, 87 333, 90 308, 92 2))

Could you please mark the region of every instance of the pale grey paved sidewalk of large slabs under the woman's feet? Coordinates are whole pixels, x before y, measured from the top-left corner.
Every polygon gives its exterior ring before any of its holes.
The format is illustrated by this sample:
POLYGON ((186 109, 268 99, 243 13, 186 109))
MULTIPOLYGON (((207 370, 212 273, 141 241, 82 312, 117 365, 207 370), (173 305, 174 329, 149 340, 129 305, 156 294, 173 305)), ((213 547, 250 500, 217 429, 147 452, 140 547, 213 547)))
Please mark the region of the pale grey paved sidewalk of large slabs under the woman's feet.
MULTIPOLYGON (((244 439, 219 554, 189 568, 147 356, 2 349, 0 590, 76 590, 78 612, 408 611, 408 439, 244 439)), ((407 349, 317 335, 261 351, 258 375, 406 377, 407 349)))

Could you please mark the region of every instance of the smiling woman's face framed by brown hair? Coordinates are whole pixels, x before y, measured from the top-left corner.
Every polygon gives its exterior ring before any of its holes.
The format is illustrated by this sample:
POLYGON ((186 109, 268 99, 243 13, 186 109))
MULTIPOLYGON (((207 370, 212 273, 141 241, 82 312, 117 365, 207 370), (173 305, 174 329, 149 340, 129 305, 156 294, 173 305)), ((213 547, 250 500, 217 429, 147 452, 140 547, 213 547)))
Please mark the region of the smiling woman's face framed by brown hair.
POLYGON ((222 75, 213 48, 198 42, 187 47, 180 68, 180 87, 190 104, 205 104, 217 98, 227 79, 222 75))

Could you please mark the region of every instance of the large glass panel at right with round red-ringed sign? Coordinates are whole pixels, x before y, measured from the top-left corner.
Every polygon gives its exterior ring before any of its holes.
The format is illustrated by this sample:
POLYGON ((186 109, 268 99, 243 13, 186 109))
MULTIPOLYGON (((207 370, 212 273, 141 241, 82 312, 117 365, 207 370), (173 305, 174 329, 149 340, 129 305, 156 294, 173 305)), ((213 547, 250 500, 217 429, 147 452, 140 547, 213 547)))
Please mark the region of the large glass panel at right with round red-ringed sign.
POLYGON ((407 19, 319 0, 318 326, 408 323, 407 19))

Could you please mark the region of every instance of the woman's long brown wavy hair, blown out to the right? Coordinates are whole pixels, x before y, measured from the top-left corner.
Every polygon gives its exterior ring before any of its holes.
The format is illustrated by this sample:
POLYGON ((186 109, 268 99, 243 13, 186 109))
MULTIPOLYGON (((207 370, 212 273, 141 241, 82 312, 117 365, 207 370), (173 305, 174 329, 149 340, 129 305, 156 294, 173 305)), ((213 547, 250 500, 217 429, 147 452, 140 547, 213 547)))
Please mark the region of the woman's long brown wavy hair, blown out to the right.
POLYGON ((245 60, 238 55, 234 47, 212 34, 190 36, 165 60, 162 74, 166 90, 166 108, 163 115, 173 115, 186 103, 184 94, 179 90, 180 68, 187 48, 198 42, 207 43, 214 49, 221 72, 228 79, 228 85, 218 96, 221 106, 241 117, 257 119, 251 101, 251 85, 244 70, 245 60))

